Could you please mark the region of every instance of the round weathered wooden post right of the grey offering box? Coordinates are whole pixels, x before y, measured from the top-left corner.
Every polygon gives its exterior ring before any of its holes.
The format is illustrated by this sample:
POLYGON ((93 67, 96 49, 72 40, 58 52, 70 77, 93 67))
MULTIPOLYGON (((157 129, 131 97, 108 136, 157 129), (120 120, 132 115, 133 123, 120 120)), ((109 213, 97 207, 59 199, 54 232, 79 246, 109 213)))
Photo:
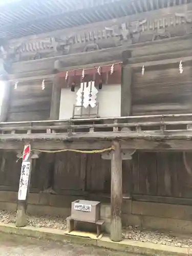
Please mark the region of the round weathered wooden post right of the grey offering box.
POLYGON ((122 240, 121 204, 122 204, 122 156, 119 141, 114 140, 115 147, 111 160, 111 240, 122 240))

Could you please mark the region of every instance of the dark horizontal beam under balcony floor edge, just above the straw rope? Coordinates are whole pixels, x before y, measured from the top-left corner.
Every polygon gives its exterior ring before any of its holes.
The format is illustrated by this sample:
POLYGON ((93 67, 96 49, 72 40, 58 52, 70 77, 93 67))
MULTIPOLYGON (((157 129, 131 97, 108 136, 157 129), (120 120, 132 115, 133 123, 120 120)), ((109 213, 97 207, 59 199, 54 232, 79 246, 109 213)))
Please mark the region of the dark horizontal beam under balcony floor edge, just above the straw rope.
MULTIPOLYGON (((5 151, 21 150, 25 142, 22 141, 0 141, 0 149, 5 151)), ((34 140, 31 142, 33 148, 38 150, 61 150, 61 149, 76 149, 76 150, 100 150, 111 146, 111 141, 62 141, 62 140, 34 140)), ((183 138, 183 140, 145 140, 145 139, 129 139, 121 141, 123 150, 142 150, 142 151, 192 151, 192 140, 183 138)))

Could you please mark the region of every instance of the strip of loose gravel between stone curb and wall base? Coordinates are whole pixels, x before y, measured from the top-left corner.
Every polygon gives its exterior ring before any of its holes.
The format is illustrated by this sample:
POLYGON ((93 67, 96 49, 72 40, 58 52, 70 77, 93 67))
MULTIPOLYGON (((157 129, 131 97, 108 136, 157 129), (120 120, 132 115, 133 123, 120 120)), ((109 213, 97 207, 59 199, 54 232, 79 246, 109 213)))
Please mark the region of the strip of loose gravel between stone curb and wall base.
MULTIPOLYGON (((0 222, 2 223, 15 223, 15 217, 16 212, 0 211, 0 222)), ((66 229, 66 220, 61 217, 52 216, 29 216, 28 225, 33 227, 66 229)), ((129 226, 123 229, 123 238, 154 244, 192 248, 192 238, 190 236, 181 236, 174 232, 159 232, 129 226)))

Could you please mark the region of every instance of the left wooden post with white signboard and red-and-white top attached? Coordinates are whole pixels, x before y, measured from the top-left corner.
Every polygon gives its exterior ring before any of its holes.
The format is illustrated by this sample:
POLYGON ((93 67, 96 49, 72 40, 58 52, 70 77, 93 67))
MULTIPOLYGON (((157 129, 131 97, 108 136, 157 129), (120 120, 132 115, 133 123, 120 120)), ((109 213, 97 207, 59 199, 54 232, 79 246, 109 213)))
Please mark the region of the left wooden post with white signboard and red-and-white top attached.
MULTIPOLYGON (((30 146, 30 145, 28 145, 30 146)), ((24 148, 24 155, 25 149, 24 148)), ((23 157, 22 168, 20 173, 19 191, 18 191, 18 203, 17 203, 17 215, 16 215, 16 227, 24 227, 27 225, 27 199, 30 187, 32 168, 31 151, 27 158, 23 157)))

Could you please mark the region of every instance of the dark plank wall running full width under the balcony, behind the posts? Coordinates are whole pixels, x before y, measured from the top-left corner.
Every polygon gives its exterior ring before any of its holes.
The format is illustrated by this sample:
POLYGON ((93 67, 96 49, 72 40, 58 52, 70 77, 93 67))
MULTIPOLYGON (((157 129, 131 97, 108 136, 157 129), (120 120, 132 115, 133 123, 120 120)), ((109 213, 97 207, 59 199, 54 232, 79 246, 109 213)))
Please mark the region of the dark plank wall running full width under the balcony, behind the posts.
MULTIPOLYGON (((21 160, 16 162, 15 153, 0 153, 0 189, 16 191, 21 160)), ((122 172, 124 196, 192 198, 191 153, 137 152, 132 161, 123 161, 122 172)), ((110 195, 111 161, 100 154, 44 153, 33 162, 31 191, 47 189, 48 177, 58 194, 110 195)))

